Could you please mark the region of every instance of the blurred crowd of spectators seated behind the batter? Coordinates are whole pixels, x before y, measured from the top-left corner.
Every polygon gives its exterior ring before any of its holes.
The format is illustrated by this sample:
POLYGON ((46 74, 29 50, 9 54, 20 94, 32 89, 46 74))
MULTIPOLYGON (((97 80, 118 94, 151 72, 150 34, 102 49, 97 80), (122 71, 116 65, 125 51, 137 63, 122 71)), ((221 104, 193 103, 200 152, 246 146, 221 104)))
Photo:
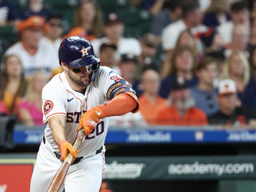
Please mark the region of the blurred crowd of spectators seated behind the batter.
POLYGON ((108 12, 100 1, 79 1, 67 28, 44 0, 28 0, 21 10, 0 0, 0 27, 13 26, 19 39, 8 44, 0 36, 1 115, 43 125, 42 89, 63 71, 58 47, 78 35, 140 100, 138 113, 111 117, 110 125, 256 126, 255 0, 116 2, 108 12), (118 10, 124 7, 129 15, 118 10), (143 32, 127 35, 132 27, 143 32))

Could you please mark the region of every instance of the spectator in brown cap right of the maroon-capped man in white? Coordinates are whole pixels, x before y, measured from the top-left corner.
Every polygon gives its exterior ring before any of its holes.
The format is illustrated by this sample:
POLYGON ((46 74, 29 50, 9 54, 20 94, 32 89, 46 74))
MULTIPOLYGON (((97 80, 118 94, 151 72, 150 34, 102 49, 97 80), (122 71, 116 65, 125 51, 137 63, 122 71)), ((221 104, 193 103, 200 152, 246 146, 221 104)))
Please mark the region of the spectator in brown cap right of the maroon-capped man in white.
POLYGON ((157 43, 156 36, 154 34, 147 33, 140 39, 141 55, 138 56, 138 60, 141 65, 160 65, 159 61, 156 59, 158 45, 159 44, 157 43))

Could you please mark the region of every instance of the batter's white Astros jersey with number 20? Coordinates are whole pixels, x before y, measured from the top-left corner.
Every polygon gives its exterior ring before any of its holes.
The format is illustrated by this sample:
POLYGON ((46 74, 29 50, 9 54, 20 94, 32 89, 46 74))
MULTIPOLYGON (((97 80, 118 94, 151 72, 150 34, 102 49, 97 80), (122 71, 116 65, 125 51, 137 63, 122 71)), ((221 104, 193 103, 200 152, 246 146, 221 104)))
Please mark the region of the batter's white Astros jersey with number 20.
MULTIPOLYGON (((116 82, 116 78, 120 78, 120 76, 113 69, 100 67, 95 81, 92 81, 86 88, 85 94, 82 94, 70 87, 65 77, 65 72, 54 76, 42 92, 43 122, 46 123, 52 116, 67 116, 65 126, 66 140, 73 145, 77 135, 80 133, 77 132, 77 128, 81 115, 86 110, 107 102, 106 94, 108 88, 116 82)), ((82 144, 78 147, 79 157, 86 156, 100 149, 104 144, 108 124, 108 117, 100 119, 96 128, 88 136, 84 137, 82 144)), ((49 124, 47 124, 44 130, 44 135, 51 147, 60 153, 57 144, 52 138, 52 130, 49 124)))

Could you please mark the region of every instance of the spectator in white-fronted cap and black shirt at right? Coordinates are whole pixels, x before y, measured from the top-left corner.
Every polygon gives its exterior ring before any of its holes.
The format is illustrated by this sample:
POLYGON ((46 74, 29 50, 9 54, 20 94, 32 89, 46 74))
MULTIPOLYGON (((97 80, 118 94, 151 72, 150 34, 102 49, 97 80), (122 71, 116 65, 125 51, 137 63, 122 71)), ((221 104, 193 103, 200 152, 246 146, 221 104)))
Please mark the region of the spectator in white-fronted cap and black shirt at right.
POLYGON ((231 79, 220 81, 217 100, 220 110, 209 116, 210 124, 228 124, 256 126, 256 114, 251 108, 237 107, 236 84, 231 79))

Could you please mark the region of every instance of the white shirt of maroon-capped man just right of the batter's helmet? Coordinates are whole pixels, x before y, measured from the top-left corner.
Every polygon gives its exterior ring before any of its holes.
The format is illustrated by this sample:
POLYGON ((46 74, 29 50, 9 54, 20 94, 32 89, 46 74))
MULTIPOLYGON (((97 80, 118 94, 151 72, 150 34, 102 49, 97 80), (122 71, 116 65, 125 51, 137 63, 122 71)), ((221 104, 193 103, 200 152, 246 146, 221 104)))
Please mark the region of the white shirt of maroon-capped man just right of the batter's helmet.
MULTIPOLYGON (((100 39, 93 39, 91 41, 94 53, 97 57, 100 57, 100 46, 103 43, 108 43, 109 40, 107 37, 103 37, 100 39)), ((126 54, 126 53, 132 53, 134 55, 139 56, 141 54, 141 47, 140 42, 135 38, 126 38, 121 37, 117 44, 117 50, 116 50, 116 59, 120 59, 120 55, 126 54)))

